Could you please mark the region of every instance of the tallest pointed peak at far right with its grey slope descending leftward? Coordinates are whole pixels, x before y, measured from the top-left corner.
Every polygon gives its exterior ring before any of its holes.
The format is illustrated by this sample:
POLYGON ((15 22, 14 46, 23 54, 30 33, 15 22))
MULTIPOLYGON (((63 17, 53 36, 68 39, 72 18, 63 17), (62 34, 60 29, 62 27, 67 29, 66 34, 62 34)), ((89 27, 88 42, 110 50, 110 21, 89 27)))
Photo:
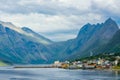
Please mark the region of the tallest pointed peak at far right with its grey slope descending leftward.
POLYGON ((87 47, 85 46, 85 49, 83 51, 84 53, 87 53, 87 55, 90 52, 92 52, 93 54, 97 54, 97 52, 94 52, 94 49, 107 44, 109 40, 113 37, 113 35, 119 30, 116 22, 113 21, 111 18, 106 20, 100 26, 100 29, 96 33, 94 33, 93 37, 89 39, 89 41, 86 43, 87 47))

